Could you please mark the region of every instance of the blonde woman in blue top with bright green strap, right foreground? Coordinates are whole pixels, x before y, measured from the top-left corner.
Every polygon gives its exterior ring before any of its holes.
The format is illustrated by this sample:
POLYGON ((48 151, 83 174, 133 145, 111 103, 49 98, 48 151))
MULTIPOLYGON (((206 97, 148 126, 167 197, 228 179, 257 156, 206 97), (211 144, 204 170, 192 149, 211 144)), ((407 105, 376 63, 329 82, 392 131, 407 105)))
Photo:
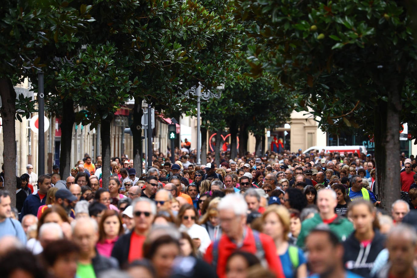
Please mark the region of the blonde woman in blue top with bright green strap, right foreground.
POLYGON ((274 239, 286 278, 307 277, 307 261, 304 252, 289 244, 291 216, 282 205, 268 207, 262 215, 263 232, 274 239), (298 259, 297 259, 298 258, 298 259))

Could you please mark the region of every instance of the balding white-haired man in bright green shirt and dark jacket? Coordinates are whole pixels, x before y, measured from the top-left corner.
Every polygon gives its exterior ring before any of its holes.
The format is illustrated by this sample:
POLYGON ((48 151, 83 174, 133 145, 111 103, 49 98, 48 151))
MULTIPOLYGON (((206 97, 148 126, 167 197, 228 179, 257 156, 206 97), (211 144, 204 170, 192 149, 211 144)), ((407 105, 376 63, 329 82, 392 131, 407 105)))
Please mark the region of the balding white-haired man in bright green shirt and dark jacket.
POLYGON ((98 241, 98 224, 92 218, 79 218, 71 222, 73 241, 80 248, 77 276, 80 278, 98 277, 100 273, 118 268, 115 258, 98 254, 95 245, 98 241))

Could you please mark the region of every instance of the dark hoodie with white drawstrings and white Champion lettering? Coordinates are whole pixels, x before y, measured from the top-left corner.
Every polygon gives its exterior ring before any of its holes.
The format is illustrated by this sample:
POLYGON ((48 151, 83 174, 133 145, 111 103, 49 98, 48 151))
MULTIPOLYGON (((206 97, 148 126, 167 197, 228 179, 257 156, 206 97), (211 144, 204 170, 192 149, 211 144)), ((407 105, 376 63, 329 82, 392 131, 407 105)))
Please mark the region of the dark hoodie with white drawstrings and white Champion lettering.
POLYGON ((370 272, 379 252, 384 249, 385 236, 375 230, 374 238, 366 247, 360 243, 353 232, 343 243, 343 262, 347 270, 362 277, 371 277, 370 272))

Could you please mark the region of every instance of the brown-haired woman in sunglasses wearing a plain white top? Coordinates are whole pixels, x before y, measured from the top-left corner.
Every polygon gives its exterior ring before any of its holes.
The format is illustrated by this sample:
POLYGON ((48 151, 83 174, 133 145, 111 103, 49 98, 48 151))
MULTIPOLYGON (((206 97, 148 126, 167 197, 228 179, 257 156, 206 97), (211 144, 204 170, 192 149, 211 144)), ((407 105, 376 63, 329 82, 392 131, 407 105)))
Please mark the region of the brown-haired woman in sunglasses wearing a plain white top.
POLYGON ((210 245, 210 236, 207 230, 196 224, 197 212, 193 205, 185 204, 178 212, 178 224, 180 232, 186 232, 191 237, 194 247, 198 248, 201 253, 205 253, 210 245))

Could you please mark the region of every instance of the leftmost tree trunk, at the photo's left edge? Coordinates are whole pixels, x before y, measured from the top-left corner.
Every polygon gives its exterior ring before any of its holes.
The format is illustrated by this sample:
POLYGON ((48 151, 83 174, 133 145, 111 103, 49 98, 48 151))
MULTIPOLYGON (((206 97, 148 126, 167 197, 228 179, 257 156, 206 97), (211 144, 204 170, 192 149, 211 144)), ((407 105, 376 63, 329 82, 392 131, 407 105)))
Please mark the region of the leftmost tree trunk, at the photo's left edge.
POLYGON ((3 120, 4 187, 9 191, 12 208, 16 207, 16 92, 8 78, 0 78, 3 120))

